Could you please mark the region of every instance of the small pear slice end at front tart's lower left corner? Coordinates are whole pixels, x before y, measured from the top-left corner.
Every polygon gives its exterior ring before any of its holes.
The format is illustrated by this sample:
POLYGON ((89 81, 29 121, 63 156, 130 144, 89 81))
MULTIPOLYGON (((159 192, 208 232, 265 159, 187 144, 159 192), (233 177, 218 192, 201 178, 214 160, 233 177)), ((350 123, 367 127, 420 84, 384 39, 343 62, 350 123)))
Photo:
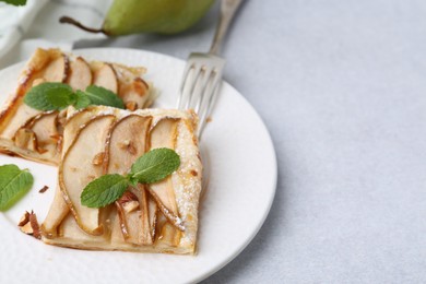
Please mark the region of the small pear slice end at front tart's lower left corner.
POLYGON ((56 237, 58 234, 58 226, 61 224, 62 220, 70 212, 63 196, 59 187, 55 192, 55 198, 52 205, 47 213, 45 222, 42 224, 42 232, 47 238, 56 237))

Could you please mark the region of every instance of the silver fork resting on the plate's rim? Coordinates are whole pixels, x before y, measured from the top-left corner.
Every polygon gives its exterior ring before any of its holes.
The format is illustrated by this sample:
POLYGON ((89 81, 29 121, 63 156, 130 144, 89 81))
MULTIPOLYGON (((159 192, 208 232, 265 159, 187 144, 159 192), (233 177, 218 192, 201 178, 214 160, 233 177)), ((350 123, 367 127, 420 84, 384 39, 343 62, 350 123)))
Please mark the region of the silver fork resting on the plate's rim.
POLYGON ((218 50, 235 11, 237 11, 241 2, 242 0, 221 1, 221 19, 210 51, 208 54, 190 54, 184 71, 177 108, 193 109, 198 114, 200 119, 199 139, 216 102, 222 84, 225 59, 218 57, 218 50))

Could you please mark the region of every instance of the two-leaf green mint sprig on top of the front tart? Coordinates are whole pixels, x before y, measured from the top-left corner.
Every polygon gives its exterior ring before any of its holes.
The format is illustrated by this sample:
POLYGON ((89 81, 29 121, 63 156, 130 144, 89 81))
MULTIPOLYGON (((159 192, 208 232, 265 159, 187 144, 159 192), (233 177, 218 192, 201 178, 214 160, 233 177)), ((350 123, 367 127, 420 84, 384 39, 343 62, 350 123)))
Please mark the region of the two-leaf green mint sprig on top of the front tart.
POLYGON ((104 208, 122 197, 128 187, 138 184, 154 184, 179 168, 180 157, 171 149, 154 149, 139 157, 127 176, 104 175, 91 181, 80 196, 87 208, 104 208))

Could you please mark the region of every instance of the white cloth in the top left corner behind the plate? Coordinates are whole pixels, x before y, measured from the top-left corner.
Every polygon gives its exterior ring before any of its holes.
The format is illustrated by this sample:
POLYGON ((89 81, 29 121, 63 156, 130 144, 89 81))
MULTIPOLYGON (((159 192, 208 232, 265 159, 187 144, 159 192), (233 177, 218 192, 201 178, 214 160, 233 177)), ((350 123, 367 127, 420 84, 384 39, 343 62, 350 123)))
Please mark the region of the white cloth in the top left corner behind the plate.
POLYGON ((113 0, 28 0, 24 7, 0 4, 0 69, 26 60, 37 47, 71 50, 80 39, 103 38, 60 24, 68 15, 99 27, 113 0))

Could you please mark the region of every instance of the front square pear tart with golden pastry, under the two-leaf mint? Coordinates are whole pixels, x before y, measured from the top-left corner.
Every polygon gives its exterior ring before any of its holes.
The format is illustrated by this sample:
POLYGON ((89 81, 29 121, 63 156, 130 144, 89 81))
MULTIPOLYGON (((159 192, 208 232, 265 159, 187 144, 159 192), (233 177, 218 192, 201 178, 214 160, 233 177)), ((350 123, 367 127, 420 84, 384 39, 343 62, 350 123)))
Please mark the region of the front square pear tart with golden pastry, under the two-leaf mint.
POLYGON ((88 250, 193 255, 197 244, 202 164, 191 111, 69 109, 58 187, 42 224, 46 244, 88 250), (126 175, 145 152, 168 147, 179 168, 151 185, 129 186, 102 209, 81 204, 85 186, 105 174, 126 175))

